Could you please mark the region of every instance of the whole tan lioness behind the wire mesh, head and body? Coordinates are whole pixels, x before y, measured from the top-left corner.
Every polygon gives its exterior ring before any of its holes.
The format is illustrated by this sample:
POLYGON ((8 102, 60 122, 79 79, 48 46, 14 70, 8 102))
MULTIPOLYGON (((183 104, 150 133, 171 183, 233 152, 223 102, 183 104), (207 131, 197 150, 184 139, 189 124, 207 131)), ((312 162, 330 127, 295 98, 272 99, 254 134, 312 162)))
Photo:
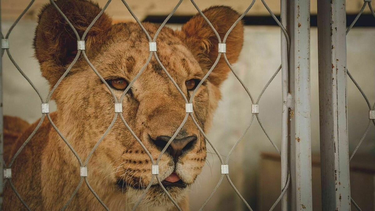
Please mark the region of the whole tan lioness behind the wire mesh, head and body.
MULTIPOLYGON (((97 4, 86 0, 58 0, 55 3, 80 36, 101 11, 97 4)), ((203 13, 221 39, 239 18, 236 11, 226 6, 214 6, 203 13)), ((143 23, 143 26, 151 37, 159 27, 152 23, 143 23)), ((218 41, 213 30, 201 15, 195 15, 181 30, 164 27, 156 42, 161 62, 189 99, 217 57, 218 41)), ((234 28, 226 44, 229 62, 236 62, 243 44, 242 23, 234 28)), ((51 4, 45 5, 39 14, 34 48, 42 75, 52 88, 76 56, 77 39, 51 4)), ((111 18, 103 14, 87 34, 86 53, 117 98, 120 98, 129 81, 145 64, 149 46, 138 24, 112 24, 111 18)), ((220 99, 220 84, 229 71, 221 58, 194 97, 194 116, 205 132, 210 128, 220 99)), ((57 104, 57 112, 50 114, 52 121, 84 162, 114 118, 113 96, 81 57, 52 98, 57 104)), ((154 57, 124 97, 121 115, 156 160, 186 113, 183 97, 154 57)), ((36 125, 37 122, 30 125, 17 141, 5 140, 6 163, 36 125)), ((189 210, 189 186, 201 172, 205 157, 205 139, 189 117, 159 163, 159 177, 163 186, 183 210, 189 210)), ((150 184, 151 177, 149 157, 121 119, 117 118, 89 161, 87 179, 91 187, 110 210, 123 211, 133 207, 143 189, 150 184)), ((30 209, 60 210, 79 180, 80 164, 77 158, 45 118, 15 160, 12 183, 30 209)), ((4 209, 24 210, 9 182, 5 189, 4 209)), ((101 210, 103 207, 83 184, 68 209, 101 210)), ((175 208, 154 180, 138 209, 175 208)))

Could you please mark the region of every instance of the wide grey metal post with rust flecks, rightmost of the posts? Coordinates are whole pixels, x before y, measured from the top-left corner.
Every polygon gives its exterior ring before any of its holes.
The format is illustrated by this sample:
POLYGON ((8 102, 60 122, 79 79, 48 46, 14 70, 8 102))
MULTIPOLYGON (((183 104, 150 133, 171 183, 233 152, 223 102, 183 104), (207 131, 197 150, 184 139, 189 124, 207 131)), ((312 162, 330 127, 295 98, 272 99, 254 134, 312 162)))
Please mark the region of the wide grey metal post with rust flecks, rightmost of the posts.
POLYGON ((350 211, 345 0, 318 0, 323 210, 350 211))

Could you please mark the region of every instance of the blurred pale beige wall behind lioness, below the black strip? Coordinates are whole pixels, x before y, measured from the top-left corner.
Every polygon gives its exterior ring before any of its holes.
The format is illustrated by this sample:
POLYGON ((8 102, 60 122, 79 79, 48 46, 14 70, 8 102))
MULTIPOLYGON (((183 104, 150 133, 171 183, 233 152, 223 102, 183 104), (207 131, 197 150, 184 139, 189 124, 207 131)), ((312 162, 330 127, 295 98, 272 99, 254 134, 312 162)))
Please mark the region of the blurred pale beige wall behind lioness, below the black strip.
MULTIPOLYGON (((11 22, 3 22, 3 32, 11 22)), ((35 29, 34 22, 21 21, 9 38, 12 55, 18 65, 30 77, 43 96, 48 84, 40 76, 39 66, 31 48, 35 29)), ((173 26, 178 27, 178 26, 173 26)), ((375 100, 375 29, 354 28, 347 37, 348 69, 361 85, 371 102, 375 100)), ((281 63, 280 29, 278 27, 246 26, 245 43, 235 70, 256 99, 281 63)), ((317 29, 311 29, 311 137, 312 153, 318 154, 319 102, 318 102, 318 54, 317 29)), ((30 84, 21 76, 10 60, 3 58, 4 114, 19 116, 28 122, 40 118, 40 100, 30 84)), ((260 118, 277 146, 281 145, 281 74, 277 75, 261 98, 260 118)), ((55 105, 50 106, 55 110, 55 105)), ((348 119, 350 150, 362 137, 368 124, 368 108, 356 87, 348 82, 348 119)), ((251 120, 251 101, 233 74, 222 86, 222 101, 214 116, 209 138, 220 154, 226 156, 251 120)), ((375 155, 375 130, 371 128, 358 154, 375 155)), ((191 210, 198 210, 220 179, 220 163, 213 150, 208 149, 206 166, 198 177, 190 194, 191 210)), ((229 161, 231 179, 252 208, 257 209, 257 181, 259 179, 261 152, 275 152, 257 121, 254 121, 229 161)), ((276 199, 275 199, 276 200, 276 199)), ((243 202, 224 178, 206 210, 245 210, 243 202)), ((268 210, 269 208, 266 208, 268 210)))

